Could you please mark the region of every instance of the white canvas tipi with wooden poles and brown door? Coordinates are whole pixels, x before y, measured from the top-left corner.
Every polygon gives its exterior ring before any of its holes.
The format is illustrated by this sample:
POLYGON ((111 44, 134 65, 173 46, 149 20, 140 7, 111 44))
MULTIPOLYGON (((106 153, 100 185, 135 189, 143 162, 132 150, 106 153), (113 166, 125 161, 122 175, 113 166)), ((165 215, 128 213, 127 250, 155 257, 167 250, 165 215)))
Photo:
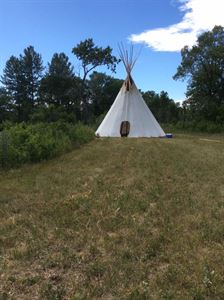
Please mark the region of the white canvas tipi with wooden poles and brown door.
POLYGON ((128 53, 119 47, 120 58, 127 71, 114 103, 96 131, 98 137, 163 137, 165 133, 151 113, 131 77, 137 57, 133 47, 128 53))

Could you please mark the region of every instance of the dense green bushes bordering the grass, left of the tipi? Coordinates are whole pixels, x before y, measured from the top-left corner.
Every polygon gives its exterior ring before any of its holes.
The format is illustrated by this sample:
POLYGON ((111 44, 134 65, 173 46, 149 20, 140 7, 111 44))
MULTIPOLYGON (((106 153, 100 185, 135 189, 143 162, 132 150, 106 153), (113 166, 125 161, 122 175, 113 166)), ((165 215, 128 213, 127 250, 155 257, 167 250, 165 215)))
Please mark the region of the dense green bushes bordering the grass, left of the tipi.
POLYGON ((82 124, 55 122, 10 125, 0 132, 0 165, 13 167, 50 159, 93 138, 93 130, 82 124))

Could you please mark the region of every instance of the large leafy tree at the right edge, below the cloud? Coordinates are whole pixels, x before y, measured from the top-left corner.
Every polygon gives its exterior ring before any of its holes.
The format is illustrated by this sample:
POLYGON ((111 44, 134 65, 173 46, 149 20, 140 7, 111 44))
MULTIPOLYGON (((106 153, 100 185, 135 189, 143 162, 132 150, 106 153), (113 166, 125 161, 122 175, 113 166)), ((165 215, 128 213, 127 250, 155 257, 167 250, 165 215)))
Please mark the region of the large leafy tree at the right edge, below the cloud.
POLYGON ((187 79, 187 104, 197 119, 224 122, 224 28, 198 37, 192 48, 181 50, 174 79, 187 79))

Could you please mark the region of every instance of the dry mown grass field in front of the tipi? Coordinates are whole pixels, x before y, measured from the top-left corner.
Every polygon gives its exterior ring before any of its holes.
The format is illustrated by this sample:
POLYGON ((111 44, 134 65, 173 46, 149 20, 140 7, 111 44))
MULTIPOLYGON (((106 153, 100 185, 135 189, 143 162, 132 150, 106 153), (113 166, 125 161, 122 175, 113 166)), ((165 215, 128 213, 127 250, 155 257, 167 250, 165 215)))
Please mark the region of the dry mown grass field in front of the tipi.
POLYGON ((0 299, 224 299, 224 139, 98 139, 0 173, 0 299))

